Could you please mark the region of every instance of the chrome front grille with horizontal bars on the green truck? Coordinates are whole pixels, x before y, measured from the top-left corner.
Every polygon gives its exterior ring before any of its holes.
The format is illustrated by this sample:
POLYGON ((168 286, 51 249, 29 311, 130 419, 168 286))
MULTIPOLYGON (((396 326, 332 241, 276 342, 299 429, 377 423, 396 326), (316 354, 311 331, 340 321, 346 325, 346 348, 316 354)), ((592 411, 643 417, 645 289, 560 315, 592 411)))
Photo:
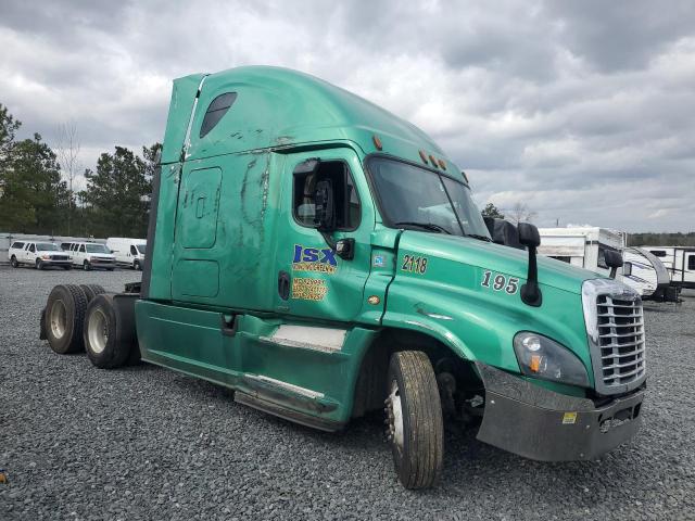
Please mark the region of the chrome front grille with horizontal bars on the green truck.
POLYGON ((645 373, 644 318, 640 298, 596 298, 601 376, 606 387, 641 380, 645 373))

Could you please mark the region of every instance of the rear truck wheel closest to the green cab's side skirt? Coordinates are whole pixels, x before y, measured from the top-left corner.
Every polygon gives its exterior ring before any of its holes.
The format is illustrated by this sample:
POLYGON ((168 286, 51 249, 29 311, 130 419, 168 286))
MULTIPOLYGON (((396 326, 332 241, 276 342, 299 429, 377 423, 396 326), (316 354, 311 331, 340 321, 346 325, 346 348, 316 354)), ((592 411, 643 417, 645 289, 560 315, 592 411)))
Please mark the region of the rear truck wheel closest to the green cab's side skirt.
POLYGON ((132 331, 125 331, 113 302, 113 294, 99 294, 89 303, 85 316, 85 351, 101 369, 125 366, 132 351, 132 331))

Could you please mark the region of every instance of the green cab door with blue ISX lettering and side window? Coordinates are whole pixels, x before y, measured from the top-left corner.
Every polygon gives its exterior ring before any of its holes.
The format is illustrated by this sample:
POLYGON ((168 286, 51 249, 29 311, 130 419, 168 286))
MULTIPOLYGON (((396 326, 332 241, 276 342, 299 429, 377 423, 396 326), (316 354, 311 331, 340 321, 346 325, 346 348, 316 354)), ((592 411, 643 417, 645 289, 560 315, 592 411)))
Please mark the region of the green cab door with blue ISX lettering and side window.
POLYGON ((375 215, 362 164, 348 148, 290 154, 282 171, 276 251, 276 310, 311 320, 348 322, 363 307, 370 268, 375 215), (306 162, 318 160, 315 173, 306 162), (332 241, 354 240, 352 258, 341 258, 314 225, 314 190, 330 179, 337 229, 332 241))

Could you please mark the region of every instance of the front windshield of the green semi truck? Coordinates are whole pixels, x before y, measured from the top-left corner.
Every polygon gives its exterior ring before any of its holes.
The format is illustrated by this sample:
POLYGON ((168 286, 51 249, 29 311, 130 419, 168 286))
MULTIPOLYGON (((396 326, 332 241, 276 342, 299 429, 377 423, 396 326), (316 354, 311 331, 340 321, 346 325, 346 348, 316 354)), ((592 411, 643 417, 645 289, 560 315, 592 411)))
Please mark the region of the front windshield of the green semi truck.
POLYGON ((368 166, 389 226, 490 239, 463 182, 386 157, 372 157, 368 166))

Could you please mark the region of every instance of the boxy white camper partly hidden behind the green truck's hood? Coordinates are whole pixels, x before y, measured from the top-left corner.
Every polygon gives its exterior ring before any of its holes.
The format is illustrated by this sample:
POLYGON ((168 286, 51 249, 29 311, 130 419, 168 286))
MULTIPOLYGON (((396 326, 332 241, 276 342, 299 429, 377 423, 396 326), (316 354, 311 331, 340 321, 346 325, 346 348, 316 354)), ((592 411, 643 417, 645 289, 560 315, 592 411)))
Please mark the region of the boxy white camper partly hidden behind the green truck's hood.
MULTIPOLYGON (((539 228, 539 232, 541 255, 606 276, 606 250, 621 252, 626 245, 624 233, 596 226, 539 228)), ((618 270, 618 279, 621 276, 618 270)))

